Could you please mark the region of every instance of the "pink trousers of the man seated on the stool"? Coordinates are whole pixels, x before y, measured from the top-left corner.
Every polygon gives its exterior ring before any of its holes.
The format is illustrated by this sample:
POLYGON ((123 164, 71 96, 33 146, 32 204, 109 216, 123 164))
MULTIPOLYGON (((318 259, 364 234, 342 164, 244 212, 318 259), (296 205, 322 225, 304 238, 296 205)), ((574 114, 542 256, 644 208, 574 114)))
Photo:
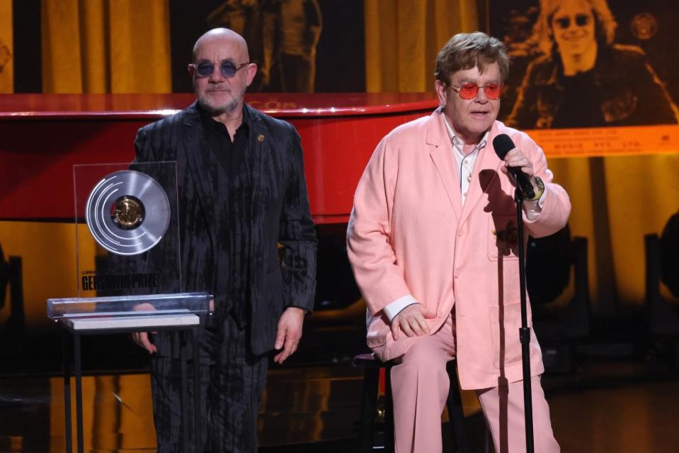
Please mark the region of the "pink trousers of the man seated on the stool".
MULTIPOLYGON (((450 379, 445 364, 455 357, 455 319, 438 332, 423 335, 392 367, 396 453, 443 450, 441 415, 450 379)), ((559 452, 540 376, 533 376, 533 432, 536 453, 559 452)), ((525 452, 523 382, 476 391, 497 453, 525 452)))

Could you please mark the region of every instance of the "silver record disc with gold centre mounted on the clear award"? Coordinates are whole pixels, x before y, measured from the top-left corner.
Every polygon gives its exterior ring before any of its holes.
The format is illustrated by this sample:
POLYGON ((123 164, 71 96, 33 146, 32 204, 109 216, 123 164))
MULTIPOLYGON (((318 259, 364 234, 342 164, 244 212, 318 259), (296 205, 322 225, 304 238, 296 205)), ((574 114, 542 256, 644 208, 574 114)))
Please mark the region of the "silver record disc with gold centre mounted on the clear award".
POLYGON ((170 203, 148 174, 121 170, 94 186, 85 217, 99 245, 118 255, 138 255, 162 239, 170 223, 170 203))

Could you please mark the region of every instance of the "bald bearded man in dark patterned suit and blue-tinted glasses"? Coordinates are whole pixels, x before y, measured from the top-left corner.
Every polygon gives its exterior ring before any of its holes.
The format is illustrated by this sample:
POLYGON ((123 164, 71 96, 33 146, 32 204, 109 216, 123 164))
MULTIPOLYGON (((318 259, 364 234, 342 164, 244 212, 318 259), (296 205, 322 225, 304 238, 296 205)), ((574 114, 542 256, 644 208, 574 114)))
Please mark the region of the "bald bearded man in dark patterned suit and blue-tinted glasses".
MULTIPOLYGON (((237 33, 202 35, 189 72, 197 102, 141 128, 137 162, 177 162, 183 281, 172 291, 215 295, 200 339, 205 447, 256 452, 268 352, 278 351, 278 363, 295 352, 314 301, 316 236, 302 146, 292 125, 244 104, 257 66, 237 33)), ((154 253, 176 250, 154 249, 147 259, 154 253)), ((135 341, 152 353, 158 451, 178 452, 183 346, 161 332, 135 341)))

